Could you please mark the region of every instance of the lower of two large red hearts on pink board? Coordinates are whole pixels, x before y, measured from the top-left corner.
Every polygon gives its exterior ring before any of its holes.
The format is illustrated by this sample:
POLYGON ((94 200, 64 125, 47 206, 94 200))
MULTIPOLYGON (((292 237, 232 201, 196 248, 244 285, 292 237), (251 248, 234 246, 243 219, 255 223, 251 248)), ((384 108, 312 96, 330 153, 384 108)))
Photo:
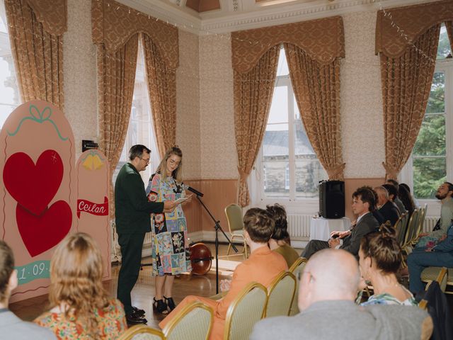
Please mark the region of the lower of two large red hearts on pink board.
POLYGON ((72 212, 64 200, 57 200, 40 216, 30 214, 18 204, 16 220, 23 244, 34 257, 49 250, 67 235, 71 229, 72 212))

